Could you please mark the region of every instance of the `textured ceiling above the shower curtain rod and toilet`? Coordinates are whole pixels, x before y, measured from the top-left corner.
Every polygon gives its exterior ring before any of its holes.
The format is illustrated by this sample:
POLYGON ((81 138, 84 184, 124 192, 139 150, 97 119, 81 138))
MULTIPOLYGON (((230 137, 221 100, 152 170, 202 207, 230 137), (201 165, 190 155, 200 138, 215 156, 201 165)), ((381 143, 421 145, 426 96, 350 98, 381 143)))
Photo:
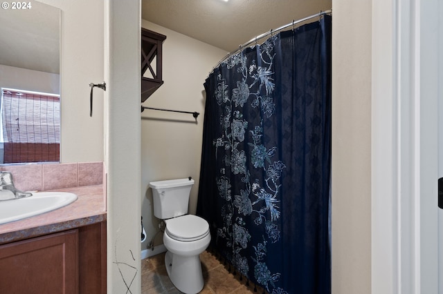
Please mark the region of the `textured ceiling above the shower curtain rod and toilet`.
POLYGON ((332 0, 142 0, 142 19, 232 52, 271 29, 332 8, 332 0))

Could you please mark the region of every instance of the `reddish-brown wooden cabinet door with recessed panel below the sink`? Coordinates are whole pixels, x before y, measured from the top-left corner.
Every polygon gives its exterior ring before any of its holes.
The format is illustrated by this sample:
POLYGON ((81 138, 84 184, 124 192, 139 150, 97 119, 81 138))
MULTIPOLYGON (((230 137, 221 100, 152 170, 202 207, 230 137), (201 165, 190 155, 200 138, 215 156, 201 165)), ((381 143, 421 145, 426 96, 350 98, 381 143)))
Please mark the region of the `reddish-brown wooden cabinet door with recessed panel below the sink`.
POLYGON ((78 230, 1 245, 0 293, 78 294, 78 230))

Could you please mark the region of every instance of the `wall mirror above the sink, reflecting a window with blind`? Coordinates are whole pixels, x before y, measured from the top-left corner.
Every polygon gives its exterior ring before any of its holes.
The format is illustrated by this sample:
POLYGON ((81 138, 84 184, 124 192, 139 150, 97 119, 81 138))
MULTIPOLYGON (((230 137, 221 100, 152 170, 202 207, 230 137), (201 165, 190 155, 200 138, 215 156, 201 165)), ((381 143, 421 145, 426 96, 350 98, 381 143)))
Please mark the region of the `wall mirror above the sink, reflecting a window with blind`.
POLYGON ((60 9, 7 1, 0 23, 0 164, 59 162, 60 9))

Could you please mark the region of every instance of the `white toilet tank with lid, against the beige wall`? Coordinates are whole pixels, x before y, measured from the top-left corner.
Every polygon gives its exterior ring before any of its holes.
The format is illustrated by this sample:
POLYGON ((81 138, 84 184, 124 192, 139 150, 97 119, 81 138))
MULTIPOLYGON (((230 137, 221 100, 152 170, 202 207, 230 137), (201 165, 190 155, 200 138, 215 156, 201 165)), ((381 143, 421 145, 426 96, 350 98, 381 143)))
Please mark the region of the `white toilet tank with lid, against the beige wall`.
POLYGON ((186 215, 192 185, 191 178, 150 182, 155 217, 169 219, 186 215))

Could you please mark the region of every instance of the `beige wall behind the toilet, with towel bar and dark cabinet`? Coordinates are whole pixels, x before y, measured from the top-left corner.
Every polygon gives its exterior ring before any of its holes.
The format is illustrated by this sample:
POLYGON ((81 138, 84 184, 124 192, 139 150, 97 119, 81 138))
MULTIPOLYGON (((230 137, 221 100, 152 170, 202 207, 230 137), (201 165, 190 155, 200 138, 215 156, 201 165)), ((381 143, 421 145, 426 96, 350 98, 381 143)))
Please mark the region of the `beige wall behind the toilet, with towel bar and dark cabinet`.
MULTIPOLYGON (((143 106, 200 113, 189 114, 144 110, 141 121, 141 202, 146 244, 159 231, 153 215, 149 182, 192 177, 190 213, 195 213, 200 176, 201 139, 205 95, 203 83, 226 51, 142 20, 142 27, 166 36, 163 42, 163 81, 143 106)), ((158 235, 155 244, 161 244, 158 235)))

